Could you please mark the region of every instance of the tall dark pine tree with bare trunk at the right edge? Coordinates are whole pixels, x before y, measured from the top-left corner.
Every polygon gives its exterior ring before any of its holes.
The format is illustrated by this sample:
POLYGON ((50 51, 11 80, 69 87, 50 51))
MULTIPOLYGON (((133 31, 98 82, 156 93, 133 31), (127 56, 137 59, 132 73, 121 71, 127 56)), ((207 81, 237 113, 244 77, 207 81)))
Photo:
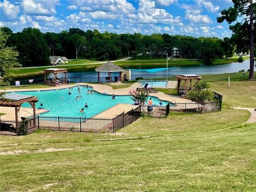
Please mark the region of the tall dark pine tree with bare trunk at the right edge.
POLYGON ((254 79, 254 26, 256 19, 256 3, 253 0, 233 0, 233 7, 228 10, 221 11, 221 17, 217 18, 218 22, 226 20, 229 24, 240 18, 244 18, 241 22, 237 22, 229 28, 233 31, 232 38, 237 44, 238 52, 246 52, 250 50, 250 73, 249 79, 254 79))

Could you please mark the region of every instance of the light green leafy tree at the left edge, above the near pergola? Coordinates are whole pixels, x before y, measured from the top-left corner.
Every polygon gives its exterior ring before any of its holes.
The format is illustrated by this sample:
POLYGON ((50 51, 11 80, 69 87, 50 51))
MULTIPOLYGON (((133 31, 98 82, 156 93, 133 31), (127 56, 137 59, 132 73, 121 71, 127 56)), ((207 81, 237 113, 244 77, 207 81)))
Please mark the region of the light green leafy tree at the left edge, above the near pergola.
MULTIPOLYGON (((0 87, 3 85, 9 85, 11 80, 10 69, 13 67, 21 66, 18 63, 19 53, 14 50, 14 47, 6 46, 6 42, 9 35, 6 35, 2 28, 0 28, 0 87)), ((4 95, 0 92, 0 97, 4 95)))

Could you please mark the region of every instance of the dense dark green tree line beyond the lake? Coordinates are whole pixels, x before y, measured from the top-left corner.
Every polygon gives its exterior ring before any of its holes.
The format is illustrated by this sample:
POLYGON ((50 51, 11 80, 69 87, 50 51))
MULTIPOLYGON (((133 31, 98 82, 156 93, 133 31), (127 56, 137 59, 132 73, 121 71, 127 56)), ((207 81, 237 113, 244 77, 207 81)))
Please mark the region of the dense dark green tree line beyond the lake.
POLYGON ((26 67, 50 65, 50 55, 103 61, 127 56, 136 58, 142 53, 152 59, 161 55, 164 57, 166 52, 171 55, 173 47, 177 47, 183 58, 203 59, 211 64, 214 59, 229 58, 234 53, 234 44, 229 38, 115 34, 79 28, 60 33, 42 33, 36 28, 24 28, 18 33, 7 27, 1 30, 9 35, 7 46, 15 47, 19 52, 19 62, 26 67))

